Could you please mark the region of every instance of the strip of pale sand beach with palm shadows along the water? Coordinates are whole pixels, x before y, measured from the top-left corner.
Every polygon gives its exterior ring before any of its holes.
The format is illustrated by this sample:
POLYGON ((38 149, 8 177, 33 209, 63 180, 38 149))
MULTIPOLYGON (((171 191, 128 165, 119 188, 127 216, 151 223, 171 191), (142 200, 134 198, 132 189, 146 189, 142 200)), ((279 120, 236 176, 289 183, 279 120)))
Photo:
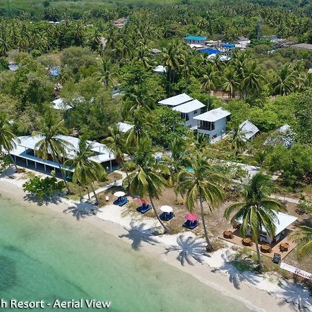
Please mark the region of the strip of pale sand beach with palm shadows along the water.
MULTIPOLYGON (((16 175, 17 176, 17 175, 16 175)), ((38 206, 36 202, 25 200, 26 193, 21 189, 25 180, 12 180, 0 177, 1 196, 12 198, 29 209, 46 209, 53 218, 62 218, 67 222, 95 226, 98 229, 119 237, 133 249, 141 249, 153 254, 159 261, 165 261, 171 266, 192 275, 203 284, 214 288, 223 295, 232 297, 245 304, 250 311, 312 311, 312 298, 309 291, 292 281, 287 281, 275 275, 255 275, 253 272, 240 273, 229 263, 229 257, 234 252, 231 245, 209 254, 202 255, 203 241, 193 233, 184 232, 175 235, 153 236, 151 233, 158 227, 152 218, 124 215, 125 208, 120 209, 107 205, 100 209, 96 216, 87 216, 78 221, 75 209, 64 214, 69 207, 79 209, 90 207, 84 203, 62 198, 60 201, 49 202, 38 206)))

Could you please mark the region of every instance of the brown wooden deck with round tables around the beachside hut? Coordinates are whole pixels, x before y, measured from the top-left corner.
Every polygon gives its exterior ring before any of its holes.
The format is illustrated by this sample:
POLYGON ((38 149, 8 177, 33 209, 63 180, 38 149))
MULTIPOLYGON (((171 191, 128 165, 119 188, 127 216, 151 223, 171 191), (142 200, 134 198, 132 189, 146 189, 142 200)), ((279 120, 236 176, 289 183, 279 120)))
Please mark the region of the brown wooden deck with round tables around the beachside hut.
MULTIPOLYGON (((222 239, 225 239, 225 241, 229 241, 230 243, 234 243, 236 245, 240 245, 240 246, 243 246, 243 247, 248 248, 250 250, 253 250, 254 252, 256 251, 256 245, 254 243, 251 246, 243 245, 243 237, 240 236, 239 229, 233 229, 232 228, 232 229, 229 229, 229 231, 231 231, 233 233, 233 238, 227 239, 224 236, 222 236, 222 239)), ((273 258, 274 253, 276 252, 277 254, 281 255, 281 259, 284 259, 287 256, 287 254, 289 254, 291 252, 291 250, 293 250, 297 245, 296 243, 293 243, 293 241, 291 241, 291 239, 288 239, 288 234, 290 234, 291 232, 292 232, 291 229, 286 229, 286 237, 284 237, 284 239, 281 239, 280 241, 274 242, 270 245, 272 248, 271 252, 261 252, 261 245, 262 244, 267 245, 267 243, 265 243, 265 242, 259 243, 261 254, 264 254, 265 256, 273 258), (288 243, 289 244, 289 248, 287 251, 281 252, 281 250, 279 248, 279 245, 281 245, 281 243, 288 243)))

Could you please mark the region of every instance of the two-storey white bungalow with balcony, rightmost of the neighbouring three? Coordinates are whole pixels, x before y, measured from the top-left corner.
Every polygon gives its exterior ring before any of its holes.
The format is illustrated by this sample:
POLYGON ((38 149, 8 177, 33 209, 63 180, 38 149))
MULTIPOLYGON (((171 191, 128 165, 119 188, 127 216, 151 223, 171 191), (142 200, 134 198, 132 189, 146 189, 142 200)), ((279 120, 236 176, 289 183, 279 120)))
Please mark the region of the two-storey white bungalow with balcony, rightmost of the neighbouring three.
POLYGON ((222 139, 225 135, 227 121, 229 121, 230 115, 230 112, 219 107, 215 110, 209 110, 209 112, 195 116, 194 119, 198 121, 198 133, 209 135, 210 139, 222 139))

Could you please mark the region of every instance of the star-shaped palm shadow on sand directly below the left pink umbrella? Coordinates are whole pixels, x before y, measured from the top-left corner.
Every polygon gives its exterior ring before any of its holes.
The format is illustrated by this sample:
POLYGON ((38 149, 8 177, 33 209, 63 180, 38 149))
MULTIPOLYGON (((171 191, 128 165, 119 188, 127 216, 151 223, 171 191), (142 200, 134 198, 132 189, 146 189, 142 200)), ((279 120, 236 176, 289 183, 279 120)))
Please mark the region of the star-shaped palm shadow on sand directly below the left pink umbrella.
POLYGON ((159 243, 154 237, 153 237, 153 231, 154 229, 145 229, 146 223, 141 223, 140 225, 136 225, 133 221, 130 223, 130 229, 127 229, 127 234, 121 234, 119 235, 120 238, 127 238, 132 241, 132 249, 139 250, 141 247, 142 242, 148 243, 150 245, 156 245, 159 243))

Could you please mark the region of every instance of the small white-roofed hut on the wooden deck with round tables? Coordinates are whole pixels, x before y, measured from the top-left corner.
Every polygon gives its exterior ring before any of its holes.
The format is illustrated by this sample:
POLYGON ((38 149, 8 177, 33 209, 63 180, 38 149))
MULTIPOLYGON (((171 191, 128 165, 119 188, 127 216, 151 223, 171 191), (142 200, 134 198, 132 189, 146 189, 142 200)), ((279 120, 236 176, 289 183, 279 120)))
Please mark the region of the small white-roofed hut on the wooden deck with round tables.
MULTIPOLYGON (((274 220, 275 235, 271 237, 265 229, 260 232, 259 241, 264 241, 268 244, 277 243, 284 239, 286 236, 286 228, 297 220, 297 217, 289 214, 283 214, 282 212, 275 212, 276 218, 274 220)), ((237 220, 237 223, 241 224, 241 220, 237 220)), ((250 236, 250 229, 248 229, 247 235, 250 236)))

